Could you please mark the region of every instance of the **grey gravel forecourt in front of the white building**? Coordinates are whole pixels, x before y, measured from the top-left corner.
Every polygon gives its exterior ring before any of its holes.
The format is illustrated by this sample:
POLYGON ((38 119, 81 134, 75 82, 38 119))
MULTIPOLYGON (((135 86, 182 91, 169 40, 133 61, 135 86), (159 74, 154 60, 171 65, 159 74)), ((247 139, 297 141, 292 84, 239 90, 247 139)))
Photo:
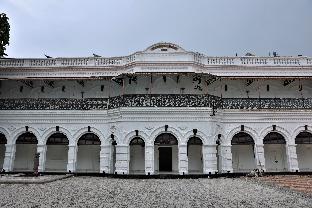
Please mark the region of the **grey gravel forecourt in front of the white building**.
POLYGON ((312 198, 254 179, 71 177, 0 184, 0 207, 312 207, 312 198))

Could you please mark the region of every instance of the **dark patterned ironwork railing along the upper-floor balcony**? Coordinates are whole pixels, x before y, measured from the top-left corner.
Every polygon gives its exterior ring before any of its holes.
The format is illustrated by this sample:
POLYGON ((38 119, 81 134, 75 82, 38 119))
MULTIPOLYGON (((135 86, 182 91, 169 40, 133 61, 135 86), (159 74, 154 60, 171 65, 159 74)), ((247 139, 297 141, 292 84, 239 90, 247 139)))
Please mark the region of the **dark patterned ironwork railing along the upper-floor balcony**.
POLYGON ((310 109, 312 98, 220 98, 196 94, 136 94, 110 98, 0 99, 0 110, 107 110, 119 107, 210 107, 214 109, 310 109))

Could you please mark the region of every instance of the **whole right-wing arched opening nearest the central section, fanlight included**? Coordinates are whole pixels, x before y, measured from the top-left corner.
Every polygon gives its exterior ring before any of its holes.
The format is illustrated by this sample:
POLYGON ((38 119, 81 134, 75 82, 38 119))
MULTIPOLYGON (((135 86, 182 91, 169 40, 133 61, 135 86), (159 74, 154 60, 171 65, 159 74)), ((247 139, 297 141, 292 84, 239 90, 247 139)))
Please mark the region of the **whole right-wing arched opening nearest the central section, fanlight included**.
POLYGON ((231 141, 233 172, 250 172, 256 168, 253 138, 245 133, 235 134, 231 141))

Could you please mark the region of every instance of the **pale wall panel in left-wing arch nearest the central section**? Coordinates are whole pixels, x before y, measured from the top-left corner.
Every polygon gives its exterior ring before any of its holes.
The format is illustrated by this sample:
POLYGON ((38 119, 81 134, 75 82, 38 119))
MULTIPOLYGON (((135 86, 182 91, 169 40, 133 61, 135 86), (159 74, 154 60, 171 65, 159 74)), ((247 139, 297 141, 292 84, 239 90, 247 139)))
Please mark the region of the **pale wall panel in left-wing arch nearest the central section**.
POLYGON ((79 145, 77 152, 77 172, 99 172, 100 150, 100 145, 79 145))

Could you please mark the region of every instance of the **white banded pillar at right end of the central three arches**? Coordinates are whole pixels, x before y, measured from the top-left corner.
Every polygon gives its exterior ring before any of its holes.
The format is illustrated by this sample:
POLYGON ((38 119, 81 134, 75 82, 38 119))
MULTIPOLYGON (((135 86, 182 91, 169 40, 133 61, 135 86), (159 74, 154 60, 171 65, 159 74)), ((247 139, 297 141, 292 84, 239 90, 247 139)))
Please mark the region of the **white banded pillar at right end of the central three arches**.
POLYGON ((203 173, 218 172, 217 145, 203 145, 203 173))

